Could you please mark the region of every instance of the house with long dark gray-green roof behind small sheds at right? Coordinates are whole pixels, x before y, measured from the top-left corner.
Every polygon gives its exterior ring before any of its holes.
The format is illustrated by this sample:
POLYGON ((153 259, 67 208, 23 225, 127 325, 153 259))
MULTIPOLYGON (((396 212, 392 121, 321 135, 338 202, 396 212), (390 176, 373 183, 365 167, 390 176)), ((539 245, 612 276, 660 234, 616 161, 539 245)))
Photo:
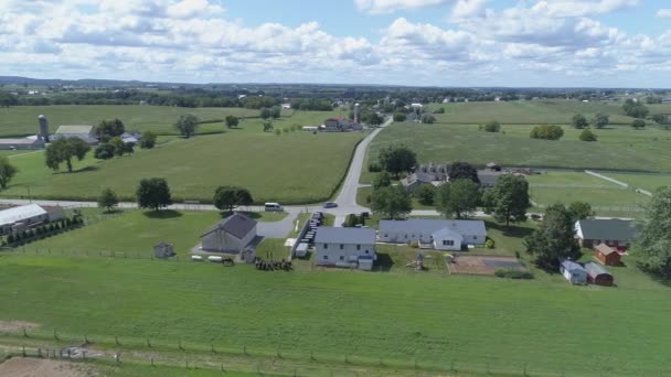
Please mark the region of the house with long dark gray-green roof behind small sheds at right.
POLYGON ((633 222, 621 219, 582 219, 575 223, 576 238, 583 247, 606 244, 626 249, 636 235, 633 222))

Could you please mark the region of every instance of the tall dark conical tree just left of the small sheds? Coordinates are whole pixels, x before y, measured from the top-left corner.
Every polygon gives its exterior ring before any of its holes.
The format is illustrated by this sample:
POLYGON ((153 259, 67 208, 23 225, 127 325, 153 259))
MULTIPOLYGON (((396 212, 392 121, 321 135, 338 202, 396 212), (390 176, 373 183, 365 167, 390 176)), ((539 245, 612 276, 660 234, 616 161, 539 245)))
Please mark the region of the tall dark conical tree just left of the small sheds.
POLYGON ((582 256, 572 214, 563 204, 553 204, 545 209, 543 222, 525 237, 524 245, 526 252, 534 257, 534 263, 551 271, 556 271, 560 260, 577 260, 582 256))

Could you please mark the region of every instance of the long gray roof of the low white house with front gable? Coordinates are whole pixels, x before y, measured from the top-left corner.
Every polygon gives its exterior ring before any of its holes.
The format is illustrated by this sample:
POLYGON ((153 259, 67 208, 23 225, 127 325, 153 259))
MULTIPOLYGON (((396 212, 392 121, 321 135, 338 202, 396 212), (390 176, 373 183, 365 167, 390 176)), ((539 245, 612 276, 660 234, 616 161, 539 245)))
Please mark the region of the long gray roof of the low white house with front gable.
POLYGON ((435 233, 448 228, 460 235, 487 236, 482 220, 454 220, 409 218, 406 220, 380 220, 380 231, 435 233))

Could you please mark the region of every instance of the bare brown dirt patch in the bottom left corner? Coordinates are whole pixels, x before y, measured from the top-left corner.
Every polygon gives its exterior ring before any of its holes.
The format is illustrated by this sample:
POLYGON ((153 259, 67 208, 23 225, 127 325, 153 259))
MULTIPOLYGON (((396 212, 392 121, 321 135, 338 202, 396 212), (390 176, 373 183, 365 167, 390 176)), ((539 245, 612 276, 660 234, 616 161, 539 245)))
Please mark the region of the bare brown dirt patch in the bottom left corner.
POLYGON ((44 358, 13 357, 0 364, 3 377, 88 377, 96 376, 90 366, 44 358))

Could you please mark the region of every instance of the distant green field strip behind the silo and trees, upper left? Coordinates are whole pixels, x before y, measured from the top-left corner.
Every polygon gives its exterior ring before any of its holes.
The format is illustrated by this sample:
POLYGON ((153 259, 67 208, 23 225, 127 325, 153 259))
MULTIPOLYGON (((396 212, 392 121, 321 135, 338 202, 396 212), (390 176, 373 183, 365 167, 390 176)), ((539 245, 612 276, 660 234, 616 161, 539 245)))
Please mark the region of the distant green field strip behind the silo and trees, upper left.
MULTIPOLYGON (((51 132, 61 125, 98 125, 103 119, 119 118, 126 129, 153 131, 161 134, 177 134, 174 122, 181 115, 193 114, 201 121, 219 120, 200 125, 198 132, 211 133, 224 131, 223 119, 228 115, 244 118, 258 117, 258 110, 245 108, 184 108, 170 106, 139 105, 62 105, 62 106, 17 106, 0 109, 0 137, 35 134, 38 116, 43 114, 49 119, 51 132)), ((287 117, 300 126, 321 123, 326 118, 339 115, 339 111, 284 111, 287 117), (323 119, 322 119, 323 118, 323 119)), ((249 121, 243 120, 243 125, 249 121)), ((258 121, 260 126, 260 121, 258 121)), ((260 128, 263 130, 263 128, 260 128)))

